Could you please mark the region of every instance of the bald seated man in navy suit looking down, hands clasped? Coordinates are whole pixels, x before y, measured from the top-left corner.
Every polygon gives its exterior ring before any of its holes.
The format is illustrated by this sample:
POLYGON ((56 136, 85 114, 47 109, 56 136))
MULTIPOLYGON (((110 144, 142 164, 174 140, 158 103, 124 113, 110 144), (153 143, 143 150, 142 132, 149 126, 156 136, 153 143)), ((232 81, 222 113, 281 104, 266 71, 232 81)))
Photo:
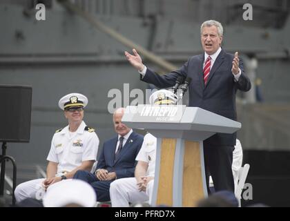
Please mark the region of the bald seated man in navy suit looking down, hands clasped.
POLYGON ((134 177, 135 158, 142 146, 143 136, 122 124, 124 108, 118 108, 113 115, 117 137, 104 142, 95 173, 77 171, 74 179, 84 180, 93 186, 97 201, 110 200, 110 183, 124 177, 134 177))

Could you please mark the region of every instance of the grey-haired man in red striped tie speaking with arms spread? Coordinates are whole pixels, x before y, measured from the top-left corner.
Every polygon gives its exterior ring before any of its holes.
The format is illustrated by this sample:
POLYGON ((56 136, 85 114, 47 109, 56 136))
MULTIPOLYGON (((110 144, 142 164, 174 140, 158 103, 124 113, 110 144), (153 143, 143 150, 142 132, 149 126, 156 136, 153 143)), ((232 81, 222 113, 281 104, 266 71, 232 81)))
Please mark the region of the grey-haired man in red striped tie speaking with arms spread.
MULTIPOLYGON (((139 70, 142 81, 158 88, 174 86, 177 77, 191 77, 189 106, 236 120, 235 94, 238 89, 250 90, 251 82, 244 74, 238 52, 232 55, 221 48, 222 24, 214 20, 204 21, 200 31, 204 53, 189 58, 180 69, 166 75, 160 76, 144 66, 135 49, 133 55, 125 52, 126 58, 139 70)), ((209 185, 211 174, 216 191, 234 191, 231 164, 235 140, 236 133, 218 133, 204 140, 206 184, 209 185)))

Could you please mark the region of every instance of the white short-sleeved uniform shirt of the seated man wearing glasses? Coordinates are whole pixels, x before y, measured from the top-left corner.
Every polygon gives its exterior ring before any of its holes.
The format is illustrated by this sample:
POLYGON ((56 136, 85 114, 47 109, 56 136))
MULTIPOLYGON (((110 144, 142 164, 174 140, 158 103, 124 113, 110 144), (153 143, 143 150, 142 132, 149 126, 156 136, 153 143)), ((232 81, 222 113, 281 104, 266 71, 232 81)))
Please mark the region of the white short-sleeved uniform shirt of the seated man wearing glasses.
POLYGON ((85 127, 85 122, 81 122, 71 137, 68 126, 53 135, 46 160, 58 163, 57 175, 72 171, 83 161, 96 160, 99 138, 94 131, 85 131, 85 127))

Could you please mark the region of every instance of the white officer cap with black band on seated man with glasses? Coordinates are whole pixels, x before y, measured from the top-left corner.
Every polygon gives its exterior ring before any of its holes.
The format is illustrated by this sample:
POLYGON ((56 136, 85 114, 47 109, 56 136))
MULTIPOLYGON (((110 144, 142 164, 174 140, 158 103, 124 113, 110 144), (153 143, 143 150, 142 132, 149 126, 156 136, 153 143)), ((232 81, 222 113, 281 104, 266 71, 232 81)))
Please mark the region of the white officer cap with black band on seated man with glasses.
POLYGON ((88 104, 88 98, 79 93, 70 93, 59 99, 59 108, 66 110, 69 108, 84 108, 88 104))

